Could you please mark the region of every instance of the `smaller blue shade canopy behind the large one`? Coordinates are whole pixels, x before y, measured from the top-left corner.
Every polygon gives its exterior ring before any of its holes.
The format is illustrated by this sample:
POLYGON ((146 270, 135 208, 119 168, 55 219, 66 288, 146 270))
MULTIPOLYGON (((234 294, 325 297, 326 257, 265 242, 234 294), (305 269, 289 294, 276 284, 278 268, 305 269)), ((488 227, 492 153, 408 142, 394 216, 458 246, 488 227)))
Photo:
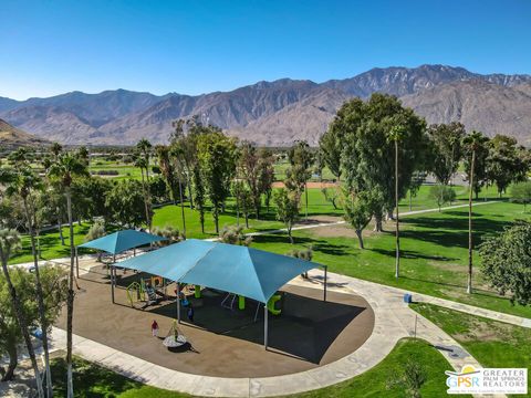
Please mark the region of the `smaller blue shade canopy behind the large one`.
POLYGON ((77 248, 97 249, 111 254, 118 254, 133 248, 165 240, 167 239, 146 232, 123 230, 80 244, 77 248))

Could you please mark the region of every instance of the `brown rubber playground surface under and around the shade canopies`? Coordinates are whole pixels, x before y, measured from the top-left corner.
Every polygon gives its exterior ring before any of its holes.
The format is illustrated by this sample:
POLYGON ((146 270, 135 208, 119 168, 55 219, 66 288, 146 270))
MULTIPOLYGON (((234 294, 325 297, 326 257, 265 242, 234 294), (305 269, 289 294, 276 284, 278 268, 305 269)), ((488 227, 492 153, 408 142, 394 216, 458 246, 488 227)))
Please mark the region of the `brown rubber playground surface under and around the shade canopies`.
MULTIPOLYGON (((95 266, 79 280, 75 297, 74 333, 137 356, 150 363, 190 374, 218 377, 267 377, 298 373, 329 364, 356 350, 372 334, 374 313, 356 295, 330 292, 323 302, 319 289, 285 285, 282 313, 269 316, 269 346, 263 348, 263 308, 253 322, 257 304, 247 301, 246 310, 222 307, 225 292, 202 290, 194 303, 195 320, 189 324, 181 308, 180 332, 191 346, 169 352, 162 339, 152 336, 156 320, 164 338, 176 317, 175 285, 171 294, 156 306, 131 307, 125 286, 139 274, 118 271, 116 304, 111 303, 106 271, 95 266)), ((142 275, 147 276, 147 275, 142 275)), ((64 328, 65 311, 58 322, 64 328)))

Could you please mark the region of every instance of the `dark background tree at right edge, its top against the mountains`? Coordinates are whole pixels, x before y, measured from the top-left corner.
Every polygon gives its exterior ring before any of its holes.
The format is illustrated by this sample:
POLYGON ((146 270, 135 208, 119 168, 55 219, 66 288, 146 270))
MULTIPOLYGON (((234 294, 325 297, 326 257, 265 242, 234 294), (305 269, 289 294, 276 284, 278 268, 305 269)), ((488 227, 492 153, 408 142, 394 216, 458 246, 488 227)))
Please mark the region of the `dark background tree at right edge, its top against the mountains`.
POLYGON ((513 137, 499 134, 490 140, 487 176, 498 187, 500 198, 511 182, 525 179, 527 165, 517 144, 513 137))

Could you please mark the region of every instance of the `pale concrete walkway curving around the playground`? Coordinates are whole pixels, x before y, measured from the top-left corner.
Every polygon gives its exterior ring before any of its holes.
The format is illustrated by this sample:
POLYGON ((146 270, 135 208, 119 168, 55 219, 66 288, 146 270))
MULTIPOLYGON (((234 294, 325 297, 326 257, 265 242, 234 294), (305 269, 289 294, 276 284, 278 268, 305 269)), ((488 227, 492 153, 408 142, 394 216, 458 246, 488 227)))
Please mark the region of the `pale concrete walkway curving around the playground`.
MULTIPOLYGON (((311 272, 310 280, 298 277, 291 283, 322 289, 322 273, 311 272)), ((334 273, 329 274, 329 289, 346 294, 355 293, 365 297, 375 313, 374 332, 356 352, 332 364, 308 371, 261 378, 219 378, 192 375, 164 368, 80 336, 74 336, 74 354, 154 387, 211 397, 270 397, 324 388, 348 380, 373 368, 391 353, 400 338, 415 336, 415 333, 417 337, 436 346, 455 370, 459 371, 464 365, 480 367, 480 364, 454 338, 404 304, 403 290, 334 273)), ((458 303, 444 300, 439 302, 438 298, 429 296, 415 294, 414 297, 416 301, 425 300, 444 306, 451 304, 451 307, 458 311, 480 316, 487 315, 487 317, 513 324, 520 322, 520 325, 524 325, 524 321, 530 321, 485 312, 485 310, 472 306, 460 307, 458 303), (455 307, 456 305, 458 307, 455 307)), ((64 349, 65 337, 64 331, 53 328, 52 345, 54 349, 64 349)), ((441 394, 445 394, 444 390, 441 394)))

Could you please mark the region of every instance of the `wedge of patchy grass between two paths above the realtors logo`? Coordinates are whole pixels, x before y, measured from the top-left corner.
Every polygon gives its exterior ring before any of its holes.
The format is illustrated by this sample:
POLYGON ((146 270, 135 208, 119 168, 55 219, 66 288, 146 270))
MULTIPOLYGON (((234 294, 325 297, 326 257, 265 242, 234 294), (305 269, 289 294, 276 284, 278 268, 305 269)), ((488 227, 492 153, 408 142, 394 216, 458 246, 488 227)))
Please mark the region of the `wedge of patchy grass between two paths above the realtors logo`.
MULTIPOLYGON (((412 308, 459 342, 485 367, 531 369, 531 329, 472 316, 437 305, 412 308)), ((531 390, 531 379, 528 380, 531 390)))

